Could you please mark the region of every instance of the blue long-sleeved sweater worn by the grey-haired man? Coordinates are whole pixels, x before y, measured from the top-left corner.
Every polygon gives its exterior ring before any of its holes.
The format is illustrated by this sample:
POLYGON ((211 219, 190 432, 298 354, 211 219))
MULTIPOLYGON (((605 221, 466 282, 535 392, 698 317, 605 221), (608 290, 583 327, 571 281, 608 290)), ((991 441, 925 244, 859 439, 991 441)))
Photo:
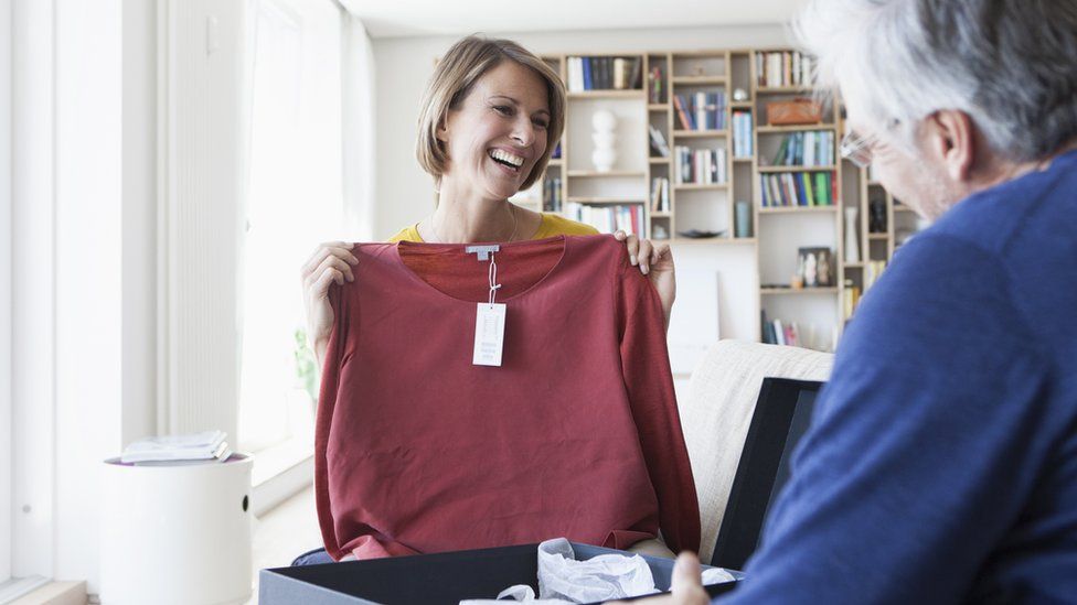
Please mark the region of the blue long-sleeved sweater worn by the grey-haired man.
POLYGON ((1077 602, 1077 152, 864 296, 731 603, 1077 602))

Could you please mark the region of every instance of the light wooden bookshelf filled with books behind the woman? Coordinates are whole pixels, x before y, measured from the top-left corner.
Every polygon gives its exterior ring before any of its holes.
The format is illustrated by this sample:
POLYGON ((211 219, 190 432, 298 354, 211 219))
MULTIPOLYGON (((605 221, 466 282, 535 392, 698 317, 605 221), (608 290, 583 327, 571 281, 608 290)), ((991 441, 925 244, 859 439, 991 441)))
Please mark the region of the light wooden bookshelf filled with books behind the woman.
MULTIPOLYGON (((715 255, 726 245, 746 247, 758 278, 753 285, 757 310, 786 325, 812 326, 813 334, 798 344, 831 348, 847 320, 851 294, 870 287, 916 219, 866 171, 839 158, 844 130, 840 106, 824 104, 817 123, 768 122, 768 104, 811 96, 812 89, 802 85, 807 63, 782 47, 543 58, 568 85, 566 131, 559 158, 551 161, 543 179, 545 186, 537 196, 514 202, 574 219, 582 218, 580 208, 591 218, 631 208, 638 213, 635 230, 642 237, 715 255), (611 67, 618 69, 614 63, 625 72, 617 83, 609 76, 611 67), (584 72, 589 72, 587 78, 584 72), (743 95, 735 98, 736 90, 743 95), (618 118, 617 161, 606 172, 590 161, 590 119, 599 109, 618 118), (651 130, 661 134, 668 155, 652 144, 651 130), (789 141, 797 141, 798 152, 811 148, 812 154, 777 161, 779 152, 795 144, 789 141), (664 188, 654 185, 659 179, 665 180, 664 188), (776 190, 779 184, 788 195, 776 190), (870 220, 873 199, 876 214, 879 201, 885 205, 882 228, 878 216, 870 220), (748 210, 742 229, 738 205, 748 210), (844 250, 847 207, 857 208, 859 253, 851 261, 844 250), (682 235, 690 230, 719 235, 682 235), (797 287, 801 248, 829 250, 824 283, 797 287)), ((605 225, 618 227, 616 220, 605 225)), ((756 338, 765 339, 765 324, 756 324, 756 338)))

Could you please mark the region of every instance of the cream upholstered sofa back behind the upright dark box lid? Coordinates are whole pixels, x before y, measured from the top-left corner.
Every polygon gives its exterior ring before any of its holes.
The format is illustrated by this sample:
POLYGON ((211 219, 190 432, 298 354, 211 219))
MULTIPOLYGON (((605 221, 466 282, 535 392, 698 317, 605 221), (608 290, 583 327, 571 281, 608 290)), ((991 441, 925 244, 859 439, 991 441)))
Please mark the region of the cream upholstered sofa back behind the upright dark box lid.
POLYGON ((679 407, 700 497, 700 558, 704 562, 714 552, 763 379, 824 381, 832 365, 829 353, 721 341, 692 372, 679 407))

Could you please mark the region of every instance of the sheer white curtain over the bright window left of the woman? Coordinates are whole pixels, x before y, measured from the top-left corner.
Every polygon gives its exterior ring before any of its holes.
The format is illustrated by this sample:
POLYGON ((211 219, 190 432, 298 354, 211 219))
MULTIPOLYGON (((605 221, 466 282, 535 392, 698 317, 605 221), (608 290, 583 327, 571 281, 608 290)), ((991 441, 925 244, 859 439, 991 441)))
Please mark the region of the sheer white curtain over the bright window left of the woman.
POLYGON ((331 0, 255 0, 242 246, 239 447, 255 482, 309 457, 317 368, 299 268, 344 235, 342 14, 331 0), (260 468, 259 468, 260 466, 260 468))

